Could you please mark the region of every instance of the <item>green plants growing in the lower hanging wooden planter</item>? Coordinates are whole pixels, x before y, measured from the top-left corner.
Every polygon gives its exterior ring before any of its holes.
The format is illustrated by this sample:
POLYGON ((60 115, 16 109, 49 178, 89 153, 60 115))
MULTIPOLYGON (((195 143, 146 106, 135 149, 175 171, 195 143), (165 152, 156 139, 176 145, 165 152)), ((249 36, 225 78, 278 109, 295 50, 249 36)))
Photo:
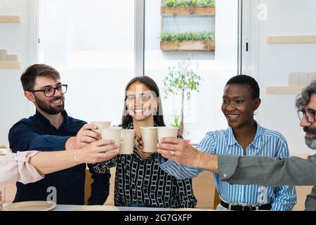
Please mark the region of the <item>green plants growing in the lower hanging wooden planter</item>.
POLYGON ((161 41, 213 41, 214 34, 209 32, 185 32, 185 33, 170 33, 164 32, 160 34, 161 41))

